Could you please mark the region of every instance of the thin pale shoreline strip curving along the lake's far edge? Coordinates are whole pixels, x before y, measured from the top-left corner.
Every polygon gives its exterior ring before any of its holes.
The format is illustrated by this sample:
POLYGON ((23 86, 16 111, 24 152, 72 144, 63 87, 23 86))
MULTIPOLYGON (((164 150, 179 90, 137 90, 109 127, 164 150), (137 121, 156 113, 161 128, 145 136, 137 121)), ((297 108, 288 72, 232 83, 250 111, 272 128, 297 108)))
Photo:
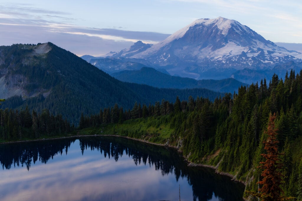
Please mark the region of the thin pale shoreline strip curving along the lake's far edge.
MULTIPOLYGON (((136 140, 136 141, 140 141, 140 142, 148 143, 148 144, 152 144, 152 145, 171 147, 171 148, 174 148, 174 149, 176 149, 178 152, 181 153, 181 151, 180 151, 177 147, 175 147, 175 146, 166 145, 166 144, 152 143, 152 142, 149 142, 149 141, 147 141, 147 140, 142 140, 142 139, 137 139, 137 138, 131 138, 131 137, 127 137, 127 136, 120 136, 120 135, 106 135, 106 134, 104 134, 104 135, 102 135, 102 134, 101 134, 101 135, 97 135, 97 134, 94 134, 94 135, 74 135, 74 136, 54 137, 54 138, 46 138, 46 139, 43 138, 43 139, 37 139, 37 140, 21 140, 21 141, 13 141, 13 142, 3 142, 3 143, 0 143, 0 144, 22 143, 22 142, 35 142, 35 141, 44 141, 44 140, 58 140, 58 139, 74 138, 74 137, 97 137, 97 136, 123 137, 123 138, 127 138, 127 139, 130 139, 130 140, 136 140)), ((182 157, 183 157, 183 156, 182 156, 182 157)), ((221 175, 228 176, 228 177, 231 178, 232 181, 239 182, 239 183, 243 184, 244 186, 246 186, 246 183, 245 183, 244 181, 237 180, 237 179, 235 178, 235 175, 230 174, 230 173, 227 173, 227 172, 218 171, 217 166, 213 166, 213 165, 205 165, 205 164, 201 164, 201 163, 193 163, 193 162, 191 162, 191 161, 188 161, 187 159, 185 159, 185 161, 187 162, 187 165, 188 165, 188 166, 211 168, 211 169, 215 170, 215 173, 216 173, 216 174, 221 174, 221 175)))

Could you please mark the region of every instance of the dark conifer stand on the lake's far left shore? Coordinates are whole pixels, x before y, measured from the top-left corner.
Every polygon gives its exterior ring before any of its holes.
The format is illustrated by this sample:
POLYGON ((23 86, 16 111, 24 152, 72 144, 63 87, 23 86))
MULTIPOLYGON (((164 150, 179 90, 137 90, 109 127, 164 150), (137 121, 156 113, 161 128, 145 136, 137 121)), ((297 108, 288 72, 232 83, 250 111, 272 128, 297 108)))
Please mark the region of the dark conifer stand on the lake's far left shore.
POLYGON ((28 107, 20 111, 0 109, 0 140, 3 141, 63 135, 74 129, 62 115, 51 115, 48 109, 39 114, 34 110, 30 112, 28 107))

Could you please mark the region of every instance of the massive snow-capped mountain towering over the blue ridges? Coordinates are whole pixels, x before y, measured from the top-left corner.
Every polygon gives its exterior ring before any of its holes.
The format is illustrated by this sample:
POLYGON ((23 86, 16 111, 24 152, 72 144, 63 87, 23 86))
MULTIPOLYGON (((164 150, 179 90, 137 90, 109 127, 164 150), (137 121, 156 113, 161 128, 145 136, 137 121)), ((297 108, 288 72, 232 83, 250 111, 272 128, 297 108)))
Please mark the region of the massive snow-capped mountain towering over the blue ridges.
POLYGON ((279 47, 238 21, 223 17, 195 20, 153 46, 137 42, 107 56, 146 59, 171 75, 195 79, 218 79, 217 74, 222 79, 244 68, 265 70, 302 61, 300 52, 279 47))

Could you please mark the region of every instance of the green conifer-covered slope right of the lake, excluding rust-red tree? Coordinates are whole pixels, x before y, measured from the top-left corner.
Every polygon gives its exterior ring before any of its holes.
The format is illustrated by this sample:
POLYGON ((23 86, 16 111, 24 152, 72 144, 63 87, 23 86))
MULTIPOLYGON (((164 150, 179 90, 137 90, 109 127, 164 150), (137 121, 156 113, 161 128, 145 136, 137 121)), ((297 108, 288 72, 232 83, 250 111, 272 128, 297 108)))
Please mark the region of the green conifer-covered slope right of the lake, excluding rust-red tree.
POLYGON ((291 71, 284 80, 274 74, 268 84, 264 80, 244 86, 233 98, 226 94, 214 102, 189 97, 188 101, 176 99, 174 103, 134 104, 125 113, 117 105, 111 108, 111 115, 109 109, 82 117, 80 126, 97 128, 97 121, 113 122, 93 132, 175 146, 188 161, 231 173, 252 191, 258 190, 261 180, 257 167, 264 160, 260 154, 265 153, 268 117, 276 113, 278 149, 283 153, 279 159, 284 165, 281 188, 285 196, 302 199, 302 71, 297 75, 291 71))

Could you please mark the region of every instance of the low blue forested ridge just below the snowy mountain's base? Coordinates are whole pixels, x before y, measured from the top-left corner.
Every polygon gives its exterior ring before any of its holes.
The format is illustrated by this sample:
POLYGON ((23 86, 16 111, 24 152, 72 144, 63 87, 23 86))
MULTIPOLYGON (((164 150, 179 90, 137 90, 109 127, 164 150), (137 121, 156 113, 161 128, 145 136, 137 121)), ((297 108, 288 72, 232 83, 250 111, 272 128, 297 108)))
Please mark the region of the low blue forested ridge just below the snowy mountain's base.
POLYGON ((224 80, 195 80, 163 74, 154 68, 147 67, 136 71, 120 71, 112 74, 112 76, 124 82, 147 84, 158 88, 206 88, 213 91, 234 93, 240 86, 248 86, 248 84, 239 82, 233 78, 224 80))

